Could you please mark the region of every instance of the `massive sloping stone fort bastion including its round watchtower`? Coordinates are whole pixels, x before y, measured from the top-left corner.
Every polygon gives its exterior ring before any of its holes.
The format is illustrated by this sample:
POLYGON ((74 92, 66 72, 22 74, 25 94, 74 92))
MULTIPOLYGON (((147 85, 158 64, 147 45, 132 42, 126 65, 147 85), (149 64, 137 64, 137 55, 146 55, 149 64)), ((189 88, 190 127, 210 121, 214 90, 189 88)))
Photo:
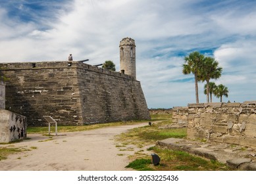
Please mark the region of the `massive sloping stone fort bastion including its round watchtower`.
POLYGON ((26 116, 28 126, 45 126, 43 116, 52 116, 59 125, 149 120, 132 68, 135 43, 129 40, 120 41, 122 72, 74 60, 0 63, 1 76, 7 78, 5 109, 26 116))

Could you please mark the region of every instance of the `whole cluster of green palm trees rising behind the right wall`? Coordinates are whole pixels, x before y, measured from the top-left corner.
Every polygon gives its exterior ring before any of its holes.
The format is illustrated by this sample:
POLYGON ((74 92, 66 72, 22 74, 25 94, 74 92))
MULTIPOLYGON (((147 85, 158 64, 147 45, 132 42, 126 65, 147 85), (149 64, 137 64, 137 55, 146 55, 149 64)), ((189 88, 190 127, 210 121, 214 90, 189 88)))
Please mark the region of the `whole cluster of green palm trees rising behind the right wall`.
POLYGON ((198 97, 198 81, 206 81, 204 93, 207 95, 207 103, 213 101, 212 95, 220 98, 222 102, 222 96, 228 97, 228 87, 220 84, 216 85, 210 80, 217 80, 220 78, 222 68, 218 66, 218 61, 213 57, 205 57, 201 53, 195 51, 184 58, 185 63, 183 66, 183 74, 193 74, 195 76, 195 101, 199 103, 198 97))

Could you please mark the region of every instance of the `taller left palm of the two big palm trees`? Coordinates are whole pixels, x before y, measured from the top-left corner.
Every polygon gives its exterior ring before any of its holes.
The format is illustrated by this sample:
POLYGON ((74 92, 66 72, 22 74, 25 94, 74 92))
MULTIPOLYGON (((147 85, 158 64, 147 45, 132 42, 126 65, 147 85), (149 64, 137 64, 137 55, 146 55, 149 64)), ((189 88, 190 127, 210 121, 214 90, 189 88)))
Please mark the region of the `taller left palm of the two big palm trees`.
POLYGON ((187 57, 184 58, 185 64, 183 64, 183 74, 194 74, 195 76, 195 100, 196 103, 199 103, 199 97, 198 97, 198 81, 199 76, 201 74, 201 65, 203 62, 204 56, 201 55, 199 52, 195 51, 193 53, 190 53, 187 57))

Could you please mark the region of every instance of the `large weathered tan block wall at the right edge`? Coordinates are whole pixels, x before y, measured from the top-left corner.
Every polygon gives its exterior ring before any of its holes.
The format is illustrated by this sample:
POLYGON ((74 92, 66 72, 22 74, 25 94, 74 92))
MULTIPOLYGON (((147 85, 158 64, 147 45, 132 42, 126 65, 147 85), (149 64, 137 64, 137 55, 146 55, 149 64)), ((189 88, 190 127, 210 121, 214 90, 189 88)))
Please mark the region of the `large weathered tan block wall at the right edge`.
POLYGON ((188 104, 189 139, 256 147, 256 101, 188 104))

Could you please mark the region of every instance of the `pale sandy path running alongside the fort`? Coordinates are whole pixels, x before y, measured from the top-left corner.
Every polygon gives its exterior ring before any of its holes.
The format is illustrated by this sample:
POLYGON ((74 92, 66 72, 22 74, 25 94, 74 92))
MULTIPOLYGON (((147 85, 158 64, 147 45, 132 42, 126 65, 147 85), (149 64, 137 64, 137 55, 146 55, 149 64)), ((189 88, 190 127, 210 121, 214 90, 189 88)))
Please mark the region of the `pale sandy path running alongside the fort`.
MULTIPOLYGON (((120 151, 114 140, 118 135, 145 124, 106 127, 90 131, 59 133, 51 141, 41 134, 28 134, 31 138, 20 143, 0 145, 1 147, 22 147, 30 149, 11 154, 0 161, 2 171, 126 171, 128 154, 120 151), (36 147, 36 149, 32 149, 36 147)), ((134 150, 136 151, 136 150, 134 150)))

